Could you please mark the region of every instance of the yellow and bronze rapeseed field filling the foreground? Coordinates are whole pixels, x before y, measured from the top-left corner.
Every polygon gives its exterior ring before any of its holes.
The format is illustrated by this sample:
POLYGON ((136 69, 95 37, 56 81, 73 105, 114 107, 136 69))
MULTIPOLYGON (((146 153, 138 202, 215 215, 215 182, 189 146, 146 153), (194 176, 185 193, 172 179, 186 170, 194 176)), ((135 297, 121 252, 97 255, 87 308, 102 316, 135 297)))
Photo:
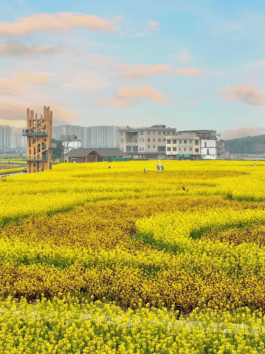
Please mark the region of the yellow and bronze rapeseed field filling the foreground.
POLYGON ((0 179, 0 354, 265 353, 265 162, 156 164, 0 179))

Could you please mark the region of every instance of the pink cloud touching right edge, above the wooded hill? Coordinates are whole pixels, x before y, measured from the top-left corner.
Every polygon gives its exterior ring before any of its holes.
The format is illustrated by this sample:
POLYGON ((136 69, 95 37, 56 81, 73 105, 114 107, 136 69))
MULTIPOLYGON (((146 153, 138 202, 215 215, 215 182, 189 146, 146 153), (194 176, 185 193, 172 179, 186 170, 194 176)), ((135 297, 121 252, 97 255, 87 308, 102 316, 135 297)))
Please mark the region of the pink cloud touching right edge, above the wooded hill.
POLYGON ((241 101, 253 106, 265 105, 265 92, 257 91, 248 85, 240 84, 216 91, 222 95, 223 101, 226 102, 241 101))

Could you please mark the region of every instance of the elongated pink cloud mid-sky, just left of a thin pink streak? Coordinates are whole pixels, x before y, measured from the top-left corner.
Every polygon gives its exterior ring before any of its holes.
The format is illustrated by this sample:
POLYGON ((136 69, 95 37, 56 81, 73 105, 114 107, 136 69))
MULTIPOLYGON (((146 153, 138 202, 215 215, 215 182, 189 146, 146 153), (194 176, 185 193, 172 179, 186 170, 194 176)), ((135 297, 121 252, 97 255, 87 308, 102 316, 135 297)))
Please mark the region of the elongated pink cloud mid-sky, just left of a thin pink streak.
POLYGON ((131 66, 118 64, 115 66, 116 71, 123 72, 118 75, 119 81, 130 82, 136 79, 146 78, 148 76, 156 76, 161 74, 170 74, 172 72, 171 65, 140 65, 131 66))

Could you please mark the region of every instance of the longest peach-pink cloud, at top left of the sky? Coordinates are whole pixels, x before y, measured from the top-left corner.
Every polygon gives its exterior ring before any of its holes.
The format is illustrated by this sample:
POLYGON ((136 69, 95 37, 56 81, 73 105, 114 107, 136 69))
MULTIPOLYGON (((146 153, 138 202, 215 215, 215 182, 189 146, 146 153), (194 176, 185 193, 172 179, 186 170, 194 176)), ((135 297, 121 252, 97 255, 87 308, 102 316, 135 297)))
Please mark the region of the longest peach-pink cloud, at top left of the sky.
MULTIPOLYGON (((117 21, 117 19, 116 19, 117 21)), ((84 13, 40 13, 29 17, 21 17, 18 22, 0 22, 0 36, 20 36, 37 32, 67 32, 84 28, 97 32, 116 32, 117 27, 106 18, 84 13)))

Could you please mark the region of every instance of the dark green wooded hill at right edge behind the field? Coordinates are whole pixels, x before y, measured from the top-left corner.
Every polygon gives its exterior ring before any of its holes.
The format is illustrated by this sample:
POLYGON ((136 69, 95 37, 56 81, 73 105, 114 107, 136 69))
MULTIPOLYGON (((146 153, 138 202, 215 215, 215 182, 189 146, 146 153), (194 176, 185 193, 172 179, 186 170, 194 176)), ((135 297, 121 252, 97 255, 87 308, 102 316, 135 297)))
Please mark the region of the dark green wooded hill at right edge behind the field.
POLYGON ((246 138, 237 138, 223 140, 225 142, 225 151, 230 154, 263 154, 265 153, 265 135, 247 136, 246 138))

